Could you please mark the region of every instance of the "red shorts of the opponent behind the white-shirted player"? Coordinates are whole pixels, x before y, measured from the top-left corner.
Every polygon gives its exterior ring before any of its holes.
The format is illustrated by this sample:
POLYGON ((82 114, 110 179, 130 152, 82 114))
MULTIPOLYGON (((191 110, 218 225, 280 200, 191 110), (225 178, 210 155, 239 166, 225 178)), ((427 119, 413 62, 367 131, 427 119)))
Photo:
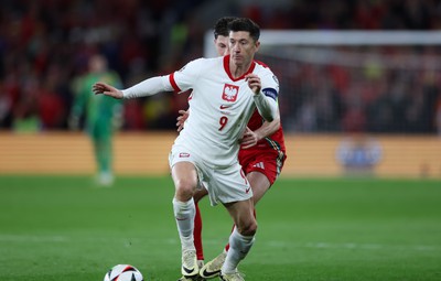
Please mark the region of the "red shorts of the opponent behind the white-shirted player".
POLYGON ((245 174, 259 172, 268 177, 272 185, 282 171, 287 155, 284 151, 275 149, 241 149, 239 163, 245 174))

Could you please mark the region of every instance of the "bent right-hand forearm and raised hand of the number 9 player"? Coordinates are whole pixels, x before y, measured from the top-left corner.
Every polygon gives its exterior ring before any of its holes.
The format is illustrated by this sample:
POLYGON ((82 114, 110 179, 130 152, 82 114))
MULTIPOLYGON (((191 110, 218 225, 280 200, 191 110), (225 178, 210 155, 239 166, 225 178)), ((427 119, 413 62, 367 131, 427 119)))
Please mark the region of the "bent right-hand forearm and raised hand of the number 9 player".
POLYGON ((259 114, 266 121, 271 122, 276 118, 277 101, 272 97, 268 97, 261 90, 260 77, 256 74, 248 74, 245 76, 248 82, 248 87, 254 93, 254 99, 259 114))

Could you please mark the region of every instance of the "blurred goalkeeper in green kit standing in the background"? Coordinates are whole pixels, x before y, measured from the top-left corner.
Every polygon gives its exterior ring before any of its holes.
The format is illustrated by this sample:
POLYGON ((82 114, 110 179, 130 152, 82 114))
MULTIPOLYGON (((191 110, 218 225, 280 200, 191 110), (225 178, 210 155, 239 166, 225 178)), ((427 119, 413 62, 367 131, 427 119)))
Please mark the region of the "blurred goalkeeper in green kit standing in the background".
POLYGON ((77 130, 84 116, 85 128, 94 145, 97 166, 96 181, 99 185, 114 183, 112 133, 121 127, 122 104, 104 95, 90 95, 96 82, 122 86, 116 72, 109 71, 103 55, 94 55, 88 62, 89 72, 74 82, 75 100, 69 117, 71 129, 77 130))

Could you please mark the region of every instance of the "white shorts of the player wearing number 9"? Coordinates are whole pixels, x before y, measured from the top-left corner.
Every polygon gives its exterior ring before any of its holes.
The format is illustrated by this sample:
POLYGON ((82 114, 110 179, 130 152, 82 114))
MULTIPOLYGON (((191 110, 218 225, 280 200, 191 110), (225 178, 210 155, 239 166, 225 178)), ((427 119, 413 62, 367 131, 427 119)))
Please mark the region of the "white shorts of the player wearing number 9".
POLYGON ((251 186, 238 161, 227 167, 212 167, 205 164, 196 153, 181 145, 173 145, 169 155, 170 167, 179 162, 194 164, 200 183, 208 191, 212 206, 252 197, 251 186))

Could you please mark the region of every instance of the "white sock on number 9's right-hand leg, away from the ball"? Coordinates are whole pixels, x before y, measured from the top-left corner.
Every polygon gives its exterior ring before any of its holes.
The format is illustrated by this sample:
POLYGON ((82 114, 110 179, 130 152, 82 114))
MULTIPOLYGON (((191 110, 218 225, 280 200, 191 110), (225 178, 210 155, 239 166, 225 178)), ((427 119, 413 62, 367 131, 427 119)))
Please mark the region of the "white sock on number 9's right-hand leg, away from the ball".
POLYGON ((220 271, 223 273, 235 272, 237 266, 247 256, 254 242, 255 236, 243 236, 235 228, 229 236, 229 250, 220 271))

